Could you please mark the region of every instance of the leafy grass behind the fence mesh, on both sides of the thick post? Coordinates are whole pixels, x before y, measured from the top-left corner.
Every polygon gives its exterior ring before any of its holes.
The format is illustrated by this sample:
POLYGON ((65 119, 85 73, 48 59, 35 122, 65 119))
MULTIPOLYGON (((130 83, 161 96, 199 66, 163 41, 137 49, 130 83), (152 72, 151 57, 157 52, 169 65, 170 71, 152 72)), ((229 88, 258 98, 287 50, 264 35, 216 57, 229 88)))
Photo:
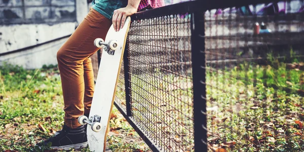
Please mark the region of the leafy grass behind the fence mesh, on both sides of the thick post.
MULTIPOLYGON (((207 70, 209 150, 304 150, 304 72, 276 58, 269 63, 207 70)), ((192 80, 187 73, 131 75, 133 119, 165 150, 194 151, 192 80)))

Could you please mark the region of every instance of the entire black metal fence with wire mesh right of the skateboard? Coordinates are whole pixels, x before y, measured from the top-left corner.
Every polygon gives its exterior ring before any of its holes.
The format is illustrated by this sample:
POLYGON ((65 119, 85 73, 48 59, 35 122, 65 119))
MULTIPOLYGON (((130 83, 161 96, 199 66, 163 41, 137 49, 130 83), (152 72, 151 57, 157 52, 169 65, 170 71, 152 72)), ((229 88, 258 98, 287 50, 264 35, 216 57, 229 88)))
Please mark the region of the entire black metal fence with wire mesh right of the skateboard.
POLYGON ((304 149, 304 1, 140 12, 115 105, 154 151, 304 149))

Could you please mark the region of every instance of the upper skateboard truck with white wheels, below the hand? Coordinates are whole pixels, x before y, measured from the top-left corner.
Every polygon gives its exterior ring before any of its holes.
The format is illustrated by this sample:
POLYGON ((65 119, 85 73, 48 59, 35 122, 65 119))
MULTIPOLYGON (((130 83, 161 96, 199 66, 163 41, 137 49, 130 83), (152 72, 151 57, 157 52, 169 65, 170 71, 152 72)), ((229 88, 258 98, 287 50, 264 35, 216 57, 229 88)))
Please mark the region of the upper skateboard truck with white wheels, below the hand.
POLYGON ((115 40, 110 40, 108 43, 105 43, 102 39, 97 38, 94 41, 94 46, 97 48, 101 48, 103 46, 103 50, 107 52, 109 55, 114 55, 115 50, 118 47, 118 43, 115 40))

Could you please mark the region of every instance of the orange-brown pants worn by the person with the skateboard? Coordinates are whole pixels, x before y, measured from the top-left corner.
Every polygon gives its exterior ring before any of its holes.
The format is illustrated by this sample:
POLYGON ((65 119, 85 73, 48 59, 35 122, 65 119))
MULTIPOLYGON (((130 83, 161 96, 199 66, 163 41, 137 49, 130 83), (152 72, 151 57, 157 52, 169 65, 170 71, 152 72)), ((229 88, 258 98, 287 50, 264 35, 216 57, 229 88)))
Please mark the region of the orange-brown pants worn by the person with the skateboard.
POLYGON ((81 126, 78 117, 89 113, 94 92, 94 74, 90 56, 99 48, 98 37, 105 39, 111 21, 91 9, 69 39, 57 52, 64 99, 64 123, 70 128, 81 126))

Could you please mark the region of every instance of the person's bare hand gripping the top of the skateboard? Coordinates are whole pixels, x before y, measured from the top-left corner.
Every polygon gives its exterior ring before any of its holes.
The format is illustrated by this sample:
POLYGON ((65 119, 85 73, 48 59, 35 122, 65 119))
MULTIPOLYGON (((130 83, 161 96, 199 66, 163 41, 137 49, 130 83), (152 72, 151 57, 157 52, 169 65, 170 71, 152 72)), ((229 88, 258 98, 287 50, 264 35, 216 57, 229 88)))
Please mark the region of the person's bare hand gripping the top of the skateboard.
POLYGON ((120 8, 114 11, 112 23, 115 31, 119 31, 124 27, 127 16, 133 15, 137 12, 137 8, 132 6, 127 6, 125 8, 120 8))

